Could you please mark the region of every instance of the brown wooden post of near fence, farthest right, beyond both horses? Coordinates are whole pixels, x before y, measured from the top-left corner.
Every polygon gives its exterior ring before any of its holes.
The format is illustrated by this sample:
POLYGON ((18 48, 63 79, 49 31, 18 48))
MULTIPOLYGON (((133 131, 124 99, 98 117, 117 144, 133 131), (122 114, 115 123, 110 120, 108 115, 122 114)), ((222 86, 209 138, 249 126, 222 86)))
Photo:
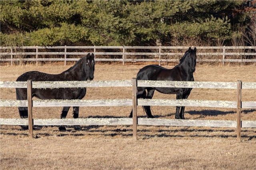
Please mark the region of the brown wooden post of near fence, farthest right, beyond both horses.
POLYGON ((236 139, 241 141, 241 108, 242 108, 242 81, 237 81, 237 106, 236 106, 236 139))

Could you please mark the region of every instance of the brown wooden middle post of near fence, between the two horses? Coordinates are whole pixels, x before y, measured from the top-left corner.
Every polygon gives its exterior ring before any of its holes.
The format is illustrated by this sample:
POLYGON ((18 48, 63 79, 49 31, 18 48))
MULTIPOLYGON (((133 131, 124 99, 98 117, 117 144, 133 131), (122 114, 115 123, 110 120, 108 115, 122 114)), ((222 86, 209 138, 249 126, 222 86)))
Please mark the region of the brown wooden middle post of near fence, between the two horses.
POLYGON ((137 140, 137 79, 132 78, 132 136, 137 140))

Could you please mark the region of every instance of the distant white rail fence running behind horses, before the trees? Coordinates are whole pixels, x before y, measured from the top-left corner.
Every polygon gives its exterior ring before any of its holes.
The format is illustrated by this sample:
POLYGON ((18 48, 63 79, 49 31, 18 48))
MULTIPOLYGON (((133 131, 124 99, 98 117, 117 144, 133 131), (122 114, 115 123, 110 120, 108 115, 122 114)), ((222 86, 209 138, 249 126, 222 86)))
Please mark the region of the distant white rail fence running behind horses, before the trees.
MULTIPOLYGON (((255 46, 220 46, 220 47, 196 47, 198 49, 197 55, 198 62, 256 62, 256 47, 255 46), (251 52, 246 52, 246 51, 251 52), (200 52, 205 51, 205 52, 200 52), (214 52, 209 52, 214 51, 214 52), (254 52, 252 52, 254 51, 254 52), (201 57, 202 56, 202 57, 201 57), (217 56, 216 58, 210 57, 205 59, 204 56, 217 56), (229 58, 227 58, 229 56, 229 58), (230 57, 235 56, 235 57, 230 57), (246 59, 245 56, 252 56, 251 59, 246 59), (213 58, 213 59, 212 59, 213 58), (234 59, 235 58, 235 59, 234 59)), ((186 46, 22 46, 22 47, 0 47, 0 61, 10 61, 11 65, 14 61, 77 61, 77 58, 68 58, 68 55, 87 55, 88 52, 96 55, 96 61, 122 61, 124 62, 137 62, 137 61, 151 61, 151 62, 177 62, 177 56, 184 55, 188 49, 186 46), (58 52, 42 52, 39 50, 44 49, 59 49, 58 52), (68 49, 82 50, 83 52, 69 52, 68 49), (103 49, 116 50, 120 52, 100 52, 103 49), (150 52, 133 52, 136 50, 150 50, 150 52), (183 52, 180 49, 184 49, 183 52), (30 52, 28 52, 30 50, 30 52), (33 52, 31 52, 33 51, 33 52), (50 58, 39 57, 40 55, 58 55, 62 57, 50 58), (120 56, 118 58, 104 58, 104 56, 120 56), (26 57, 28 56, 28 57, 26 57), (147 58, 143 58, 148 56, 147 58)))

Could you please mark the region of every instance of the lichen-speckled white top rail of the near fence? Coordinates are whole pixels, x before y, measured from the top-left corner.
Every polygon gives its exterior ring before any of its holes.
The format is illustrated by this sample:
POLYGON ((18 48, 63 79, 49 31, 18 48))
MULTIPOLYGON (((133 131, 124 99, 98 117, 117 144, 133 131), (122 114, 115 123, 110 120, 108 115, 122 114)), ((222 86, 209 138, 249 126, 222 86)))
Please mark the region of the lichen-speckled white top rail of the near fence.
MULTIPOLYGON (((79 87, 132 87, 130 80, 107 81, 33 81, 33 88, 79 88, 79 87)), ((0 81, 0 88, 26 88, 26 81, 0 81)), ((138 87, 182 87, 208 89, 236 89, 236 82, 208 81, 152 81, 138 80, 138 87)), ((256 89, 256 82, 244 82, 242 89, 256 89)))

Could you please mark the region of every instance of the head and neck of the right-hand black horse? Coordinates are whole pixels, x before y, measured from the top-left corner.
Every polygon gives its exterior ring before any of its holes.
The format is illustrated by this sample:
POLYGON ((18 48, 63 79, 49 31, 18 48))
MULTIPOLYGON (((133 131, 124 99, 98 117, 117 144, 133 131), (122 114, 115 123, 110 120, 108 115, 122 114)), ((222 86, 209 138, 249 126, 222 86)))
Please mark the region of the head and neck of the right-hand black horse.
POLYGON ((188 48, 184 56, 180 59, 180 65, 182 63, 184 63, 184 66, 190 73, 196 71, 196 47, 194 47, 194 50, 191 47, 188 48))

